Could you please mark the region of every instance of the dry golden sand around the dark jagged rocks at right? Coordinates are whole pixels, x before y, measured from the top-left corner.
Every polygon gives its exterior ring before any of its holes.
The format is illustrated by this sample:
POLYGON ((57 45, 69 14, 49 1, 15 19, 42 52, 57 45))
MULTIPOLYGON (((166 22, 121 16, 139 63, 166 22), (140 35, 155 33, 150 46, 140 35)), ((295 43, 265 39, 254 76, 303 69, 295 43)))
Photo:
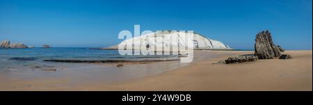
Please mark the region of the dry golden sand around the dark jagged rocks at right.
MULTIPOLYGON (((249 51, 232 51, 251 54, 249 51)), ((309 90, 312 91, 312 51, 286 51, 292 59, 213 65, 204 60, 156 76, 117 84, 123 90, 309 90)))

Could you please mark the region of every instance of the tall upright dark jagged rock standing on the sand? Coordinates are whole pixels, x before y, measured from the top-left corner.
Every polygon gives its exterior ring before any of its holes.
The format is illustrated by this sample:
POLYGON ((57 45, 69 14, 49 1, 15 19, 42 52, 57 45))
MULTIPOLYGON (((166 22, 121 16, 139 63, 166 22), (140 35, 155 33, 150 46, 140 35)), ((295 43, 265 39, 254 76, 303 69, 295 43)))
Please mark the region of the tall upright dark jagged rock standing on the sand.
POLYGON ((257 33, 255 38, 255 56, 259 59, 269 59, 279 57, 280 51, 283 51, 282 47, 274 45, 271 33, 268 31, 262 31, 257 33))

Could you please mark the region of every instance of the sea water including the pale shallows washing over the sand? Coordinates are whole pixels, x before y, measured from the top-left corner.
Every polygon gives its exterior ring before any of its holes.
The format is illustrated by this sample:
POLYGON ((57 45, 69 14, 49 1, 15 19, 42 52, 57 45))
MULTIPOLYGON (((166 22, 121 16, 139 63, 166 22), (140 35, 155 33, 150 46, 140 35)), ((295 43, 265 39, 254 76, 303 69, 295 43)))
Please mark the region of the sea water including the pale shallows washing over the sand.
POLYGON ((40 80, 70 79, 69 83, 86 81, 113 82, 157 74, 186 64, 179 60, 125 64, 116 67, 112 64, 95 63, 55 63, 45 60, 164 60, 177 59, 177 56, 121 56, 118 50, 98 50, 89 48, 29 48, 0 49, 0 77, 2 79, 40 80), (52 70, 52 71, 45 71, 52 70))

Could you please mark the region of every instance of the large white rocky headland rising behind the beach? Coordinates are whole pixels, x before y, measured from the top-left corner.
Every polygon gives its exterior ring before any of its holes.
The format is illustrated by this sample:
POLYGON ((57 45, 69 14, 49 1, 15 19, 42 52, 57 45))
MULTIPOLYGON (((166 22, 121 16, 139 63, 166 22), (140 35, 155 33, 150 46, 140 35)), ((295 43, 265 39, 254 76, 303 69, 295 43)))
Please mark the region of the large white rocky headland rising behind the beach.
MULTIPOLYGON (((157 49, 162 49, 163 47, 170 47, 172 49, 178 49, 179 47, 186 48, 188 47, 188 45, 184 43, 184 40, 179 40, 186 39, 184 37, 184 35, 186 34, 186 32, 179 31, 162 31, 158 33, 148 33, 146 35, 141 35, 135 38, 124 40, 118 45, 107 47, 105 49, 118 49, 119 46, 121 48, 121 46, 125 47, 125 45, 132 45, 134 49, 143 49, 143 47, 149 47, 147 49, 154 49, 154 47, 156 47, 157 49)), ((188 35, 190 35, 190 37, 193 37, 193 49, 232 49, 229 46, 224 45, 220 41, 211 40, 209 38, 206 38, 204 35, 200 35, 198 33, 190 33, 188 35)))

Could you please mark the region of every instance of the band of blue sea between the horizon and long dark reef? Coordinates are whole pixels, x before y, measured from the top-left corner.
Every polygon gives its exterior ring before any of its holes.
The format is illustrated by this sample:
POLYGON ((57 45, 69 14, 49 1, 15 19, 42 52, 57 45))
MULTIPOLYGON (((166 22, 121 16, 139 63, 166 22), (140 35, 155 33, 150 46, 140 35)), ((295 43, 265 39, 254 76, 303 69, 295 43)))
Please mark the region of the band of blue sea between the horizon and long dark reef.
POLYGON ((67 59, 67 60, 120 60, 132 58, 162 58, 175 56, 121 56, 118 50, 97 50, 89 48, 30 48, 30 49, 0 49, 1 58, 35 58, 67 59))

